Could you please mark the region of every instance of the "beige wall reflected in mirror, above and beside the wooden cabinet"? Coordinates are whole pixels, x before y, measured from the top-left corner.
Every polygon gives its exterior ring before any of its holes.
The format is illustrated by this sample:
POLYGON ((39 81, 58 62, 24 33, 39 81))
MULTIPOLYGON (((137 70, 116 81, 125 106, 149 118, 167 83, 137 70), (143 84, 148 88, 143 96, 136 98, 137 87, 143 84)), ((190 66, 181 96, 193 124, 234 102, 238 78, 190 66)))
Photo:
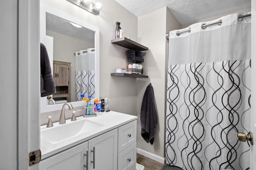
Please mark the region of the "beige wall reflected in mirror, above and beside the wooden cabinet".
POLYGON ((54 31, 46 30, 46 35, 53 37, 53 60, 71 63, 71 102, 76 101, 75 71, 76 59, 74 52, 94 48, 94 43, 73 38, 54 31))

